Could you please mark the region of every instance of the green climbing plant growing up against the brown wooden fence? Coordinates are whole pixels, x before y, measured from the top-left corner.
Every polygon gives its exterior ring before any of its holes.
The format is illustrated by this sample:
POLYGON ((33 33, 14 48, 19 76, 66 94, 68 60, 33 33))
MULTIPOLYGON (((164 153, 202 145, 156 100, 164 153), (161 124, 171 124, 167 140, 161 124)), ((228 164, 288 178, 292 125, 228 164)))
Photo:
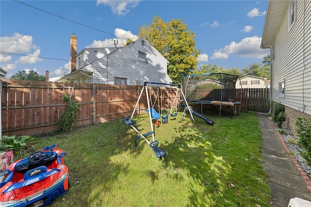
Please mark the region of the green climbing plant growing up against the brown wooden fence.
POLYGON ((60 131, 66 132, 72 130, 75 122, 78 118, 78 113, 80 111, 80 105, 71 100, 69 95, 64 95, 64 101, 68 103, 68 108, 65 112, 58 118, 56 123, 60 127, 60 131))

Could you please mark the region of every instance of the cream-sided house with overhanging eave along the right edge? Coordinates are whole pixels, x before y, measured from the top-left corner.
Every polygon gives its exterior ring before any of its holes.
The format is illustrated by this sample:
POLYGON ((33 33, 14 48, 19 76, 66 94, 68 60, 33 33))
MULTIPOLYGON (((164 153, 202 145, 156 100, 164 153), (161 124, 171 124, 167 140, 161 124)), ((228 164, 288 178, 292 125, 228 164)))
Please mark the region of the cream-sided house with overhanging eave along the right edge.
POLYGON ((297 116, 311 117, 311 0, 269 0, 260 48, 271 50, 271 99, 294 132, 297 116))

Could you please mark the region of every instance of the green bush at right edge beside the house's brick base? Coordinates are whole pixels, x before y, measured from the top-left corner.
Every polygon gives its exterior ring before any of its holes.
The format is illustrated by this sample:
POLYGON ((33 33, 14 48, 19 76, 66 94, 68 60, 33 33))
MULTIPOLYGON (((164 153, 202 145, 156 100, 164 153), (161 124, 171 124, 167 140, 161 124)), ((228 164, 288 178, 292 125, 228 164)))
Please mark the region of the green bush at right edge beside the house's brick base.
POLYGON ((296 117, 295 132, 299 138, 299 143, 306 149, 311 157, 311 118, 305 116, 296 117))

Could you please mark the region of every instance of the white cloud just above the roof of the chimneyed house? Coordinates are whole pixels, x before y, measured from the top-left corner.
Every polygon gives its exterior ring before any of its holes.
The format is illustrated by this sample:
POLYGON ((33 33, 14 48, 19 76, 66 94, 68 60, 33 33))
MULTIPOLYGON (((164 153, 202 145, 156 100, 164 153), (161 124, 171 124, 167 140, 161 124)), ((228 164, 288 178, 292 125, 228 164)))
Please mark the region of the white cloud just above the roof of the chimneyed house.
POLYGON ((114 40, 118 40, 118 45, 117 47, 122 47, 124 43, 126 43, 126 39, 130 38, 133 41, 137 40, 138 37, 137 35, 133 35, 131 31, 125 31, 119 28, 115 29, 115 33, 117 37, 120 38, 110 38, 110 39, 105 39, 104 41, 101 40, 94 40, 91 45, 87 45, 86 48, 110 48, 114 47, 114 40), (123 38, 121 38, 123 37, 123 38))

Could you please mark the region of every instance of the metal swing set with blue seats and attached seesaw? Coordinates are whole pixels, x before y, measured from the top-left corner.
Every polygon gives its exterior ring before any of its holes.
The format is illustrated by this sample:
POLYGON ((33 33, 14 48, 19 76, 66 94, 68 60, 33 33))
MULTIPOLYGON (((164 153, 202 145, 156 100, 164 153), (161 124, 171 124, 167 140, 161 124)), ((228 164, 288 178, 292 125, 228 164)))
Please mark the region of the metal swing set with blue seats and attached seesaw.
MULTIPOLYGON (((188 103, 186 101, 185 95, 184 95, 180 85, 177 85, 177 84, 152 83, 152 82, 145 82, 144 83, 144 86, 142 87, 142 89, 140 91, 140 94, 138 96, 138 100, 137 100, 137 103, 136 103, 136 105, 134 107, 134 110, 133 110, 133 113, 131 115, 131 118, 124 118, 123 119, 123 122, 125 124, 127 124, 128 126, 131 126, 139 135, 137 138, 135 138, 135 147, 137 147, 137 140, 140 139, 140 138, 143 138, 149 144, 149 146, 153 149, 153 151, 155 152, 155 155, 156 155, 157 158, 161 158, 161 157, 163 157, 166 154, 166 150, 162 150, 162 149, 160 149, 158 147, 158 141, 155 140, 155 132, 154 132, 153 124, 159 125, 161 123, 159 121, 160 118, 162 118, 162 120, 161 120, 162 123, 168 123, 169 117, 176 117, 177 116, 177 105, 178 105, 178 103, 177 103, 177 95, 179 94, 179 96, 180 96, 180 93, 182 94, 182 97, 185 100, 186 105, 189 107, 189 105, 188 105, 188 103), (151 93, 150 93, 150 96, 149 96, 149 93, 148 93, 148 86, 151 87, 151 85, 157 86, 157 94, 155 96, 154 103, 152 103, 151 93), (174 100, 173 100, 173 104, 171 105, 171 111, 166 116, 163 116, 163 108, 164 108, 164 101, 163 100, 164 100, 164 96, 162 96, 162 90, 161 90, 161 97, 159 97, 159 87, 163 86, 163 85, 169 86, 169 87, 177 87, 176 94, 175 94, 175 97, 174 97, 174 100), (142 108, 138 107, 140 98, 141 98, 141 96, 142 96, 144 91, 146 93, 147 104, 148 104, 148 108, 146 108, 146 109, 142 109, 142 108), (160 98, 161 98, 161 110, 160 110, 160 104, 159 104, 159 99, 160 98), (158 105, 158 111, 159 112, 161 111, 161 115, 158 112, 156 112, 156 110, 154 109, 156 101, 158 103, 157 104, 158 105), (176 104, 175 104, 175 102, 176 102, 176 104), (176 105, 176 111, 173 113, 174 105, 176 105), (150 132, 148 132, 146 134, 142 134, 134 126, 134 124, 137 123, 137 121, 132 121, 132 118, 133 118, 136 110, 138 110, 138 111, 139 110, 145 110, 149 114, 150 132), (153 123, 152 119, 155 120, 155 123, 153 123), (147 136, 150 136, 150 135, 152 135, 152 142, 150 142, 146 138, 147 136)), ((168 98, 168 111, 169 111, 169 98, 168 98)), ((193 119, 193 116, 192 116, 191 112, 190 112, 190 116, 191 116, 191 120, 194 122, 194 119, 193 119)))

